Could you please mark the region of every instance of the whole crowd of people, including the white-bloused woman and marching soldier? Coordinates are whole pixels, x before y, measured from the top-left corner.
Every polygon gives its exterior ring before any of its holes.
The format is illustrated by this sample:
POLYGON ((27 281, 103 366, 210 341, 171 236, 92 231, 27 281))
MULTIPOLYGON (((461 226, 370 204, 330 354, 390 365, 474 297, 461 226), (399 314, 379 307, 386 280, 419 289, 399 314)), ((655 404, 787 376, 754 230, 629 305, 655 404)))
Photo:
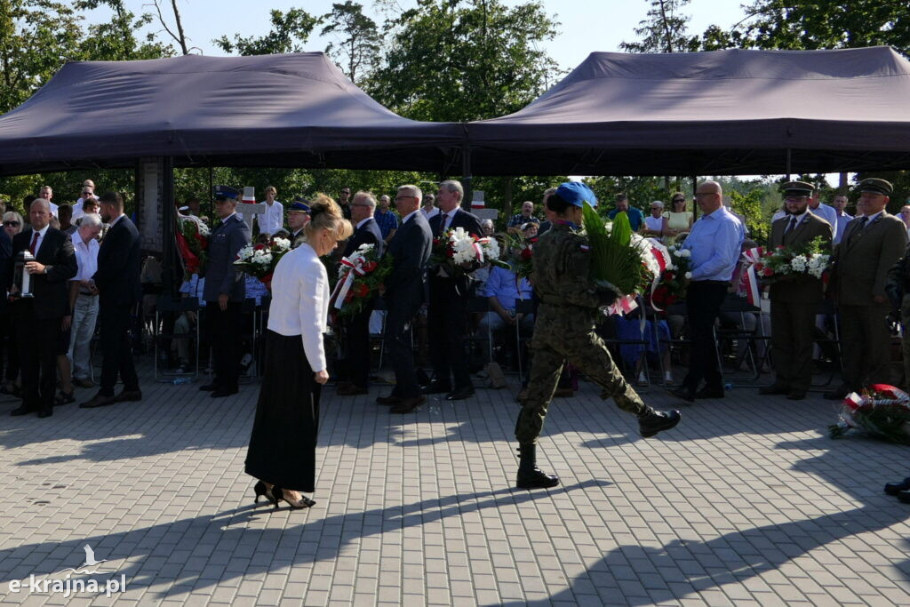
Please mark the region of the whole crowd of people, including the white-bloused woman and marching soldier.
MULTIPOLYGON (((51 202, 51 188, 43 187, 37 197, 25 201, 27 222, 15 211, 3 214, 0 278, 11 297, 0 304, 8 309, 4 314, 8 321, 7 381, 2 389, 23 400, 14 415, 36 412, 46 417, 55 404, 73 402, 76 387, 95 385, 89 344, 96 323, 100 324, 104 357, 99 389, 81 406, 101 407, 142 398, 129 339, 131 314, 142 295, 138 232, 124 215, 119 195, 96 197, 94 189, 86 181, 75 204, 57 207, 51 202), (24 257, 23 251, 30 255, 24 257), (25 259, 21 269, 14 267, 17 258, 25 259), (17 271, 32 278, 28 297, 17 292, 22 288, 17 271), (124 385, 119 393, 115 393, 117 379, 124 385)), ((891 184, 865 179, 857 189, 854 218, 845 213, 847 198, 843 195, 834 197, 829 207, 821 203, 810 184, 797 181, 783 187, 784 207, 773 218, 769 247, 790 247, 820 238, 825 246, 833 247, 834 264, 827 285, 808 276, 775 282, 768 289, 770 315, 756 312, 752 326, 744 327, 768 329, 774 380, 761 389, 763 394, 806 398, 813 373, 815 332, 819 322, 824 322, 819 316, 825 297, 836 301, 841 339, 849 344, 842 349, 842 381, 825 397, 839 400, 871 383, 903 381, 891 375, 887 316, 899 309, 903 321, 910 323, 910 260, 905 258, 908 228, 901 218, 885 211, 891 184)), ((315 450, 319 389, 329 372, 337 379, 337 395, 369 393, 371 337, 380 331, 395 381, 391 392, 376 402, 396 414, 413 412, 428 395, 439 394, 450 401, 474 396, 478 360, 481 366, 488 363, 490 371, 495 367, 490 363, 496 359, 484 359, 471 349, 466 339, 471 335, 489 331, 494 339, 490 349, 495 345, 496 357, 511 353, 531 360, 525 366, 530 372, 522 378, 522 407, 516 425, 520 487, 550 487, 558 482, 537 468, 535 445, 551 399, 571 386, 571 377, 578 371, 602 388, 603 398, 612 398, 622 410, 638 416, 642 436, 672 428, 680 420, 679 412, 652 410, 626 376, 641 381, 648 356, 655 355, 665 363, 663 379, 673 383, 667 348, 671 335, 678 337, 684 328, 690 344, 688 369, 672 394, 690 403, 724 398, 715 326, 723 322, 723 302, 736 293, 741 282, 743 251, 754 243, 747 238, 742 216, 725 205, 728 198, 719 183, 698 185, 694 195, 697 220, 679 192, 670 197, 669 209, 661 201, 652 201, 648 214, 619 195, 606 214, 614 218, 625 212, 632 229, 688 251, 691 259, 682 317, 649 314, 649 322, 661 325, 662 337, 649 339, 647 345, 632 349, 631 355, 626 349, 614 350, 625 363, 626 374, 602 339, 606 335, 604 318, 598 309, 609 302, 588 279, 589 248, 576 229, 581 224, 581 207, 597 205, 590 188, 569 182, 547 190, 542 218, 535 216, 534 204, 527 201, 518 214, 503 221, 503 233, 498 235, 492 220, 481 220, 463 208, 463 196, 460 182, 446 180, 435 194, 404 185, 392 200, 345 187, 337 201, 320 195, 283 204, 277 190, 268 187, 265 211, 248 223, 238 214, 238 190, 215 188, 216 221, 208 235, 205 275, 188 277, 180 288, 184 296, 198 298, 204 321, 195 312, 181 315, 175 320, 176 332, 188 335, 191 324, 204 322, 212 380, 200 389, 213 398, 230 396, 238 392, 245 353, 238 330, 243 322, 242 304, 252 296, 270 297, 266 347, 261 354, 266 376, 248 456, 248 472, 261 481, 258 495, 276 504, 285 500, 294 507, 311 502, 302 495, 313 491, 310 449, 295 456, 303 458, 299 465, 284 468, 270 450, 291 444, 289 437, 295 432, 303 432, 303 444, 315 450), (515 268, 452 271, 434 263, 434 239, 455 228, 477 237, 497 236, 503 248, 511 246, 511 238, 534 242, 530 279, 520 277, 515 268), (288 238, 292 250, 279 262, 268 293, 258 280, 244 276, 234 261, 254 238, 268 241, 275 237, 288 238), (337 243, 342 247, 335 250, 337 243), (329 283, 320 258, 329 256, 338 262, 365 244, 372 245, 379 256, 388 254, 392 268, 377 297, 370 298, 358 314, 335 323, 336 341, 342 347, 333 356, 322 337, 329 319, 329 283), (472 301, 484 303, 481 312, 471 307, 472 301), (381 319, 379 329, 377 318, 381 319), (515 339, 522 335, 531 339, 515 339), (421 342, 429 352, 430 375, 415 363, 421 342), (516 352, 514 348, 527 349, 516 352), (295 373, 292 368, 309 372, 295 373), (307 401, 311 406, 303 412, 291 406, 307 401)), ((178 220, 200 225, 210 221, 201 216, 196 198, 179 207, 178 220)), ((613 331, 622 333, 631 327, 623 324, 630 323, 628 319, 613 321, 613 331)), ((634 324, 641 330, 641 323, 634 324)), ((183 366, 189 348, 201 348, 188 339, 173 339, 172 347, 183 366)), ((761 341, 743 342, 739 347, 762 353, 766 349, 761 341)), ((907 349, 910 346, 905 346, 905 352, 907 349)), ((910 356, 905 355, 905 363, 910 363, 910 356)), ((907 367, 905 376, 910 378, 910 364, 907 367)), ((284 461, 295 461, 288 453, 284 456, 288 456, 284 461)))

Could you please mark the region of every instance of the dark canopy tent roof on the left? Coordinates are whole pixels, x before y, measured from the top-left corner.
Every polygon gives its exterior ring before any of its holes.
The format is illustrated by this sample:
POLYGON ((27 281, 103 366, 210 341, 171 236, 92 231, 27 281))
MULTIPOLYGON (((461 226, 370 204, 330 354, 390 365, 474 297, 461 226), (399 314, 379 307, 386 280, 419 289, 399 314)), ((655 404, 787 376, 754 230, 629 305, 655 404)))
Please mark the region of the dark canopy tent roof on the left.
POLYGON ((162 156, 177 166, 451 171, 463 130, 390 112, 323 53, 74 62, 0 116, 0 175, 162 156))

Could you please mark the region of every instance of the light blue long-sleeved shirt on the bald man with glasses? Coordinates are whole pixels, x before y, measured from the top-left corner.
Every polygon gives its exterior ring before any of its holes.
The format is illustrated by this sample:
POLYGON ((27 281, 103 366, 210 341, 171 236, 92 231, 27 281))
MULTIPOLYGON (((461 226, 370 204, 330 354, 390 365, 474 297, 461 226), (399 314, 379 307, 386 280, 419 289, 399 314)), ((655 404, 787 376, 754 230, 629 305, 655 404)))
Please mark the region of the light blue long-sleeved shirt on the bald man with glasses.
POLYGON ((692 251, 692 279, 729 281, 733 278, 743 238, 743 224, 725 207, 699 218, 682 243, 682 248, 692 251))

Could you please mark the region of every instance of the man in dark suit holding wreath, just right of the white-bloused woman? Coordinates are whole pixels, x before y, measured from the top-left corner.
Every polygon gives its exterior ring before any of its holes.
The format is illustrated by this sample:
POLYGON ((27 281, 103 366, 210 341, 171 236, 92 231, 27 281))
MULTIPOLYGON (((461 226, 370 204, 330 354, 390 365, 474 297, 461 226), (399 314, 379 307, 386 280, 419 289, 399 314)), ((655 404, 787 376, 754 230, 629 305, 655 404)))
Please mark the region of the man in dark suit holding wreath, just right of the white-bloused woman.
MULTIPOLYGON (((372 245, 378 257, 382 256, 385 242, 379 224, 373 218, 376 212, 376 198, 369 192, 358 192, 350 203, 350 221, 354 224, 354 235, 344 249, 344 257, 350 257, 363 245, 372 245)), ((371 300, 359 314, 344 323, 348 341, 348 381, 339 385, 340 396, 355 396, 368 392, 369 381, 369 317, 375 301, 371 300)))

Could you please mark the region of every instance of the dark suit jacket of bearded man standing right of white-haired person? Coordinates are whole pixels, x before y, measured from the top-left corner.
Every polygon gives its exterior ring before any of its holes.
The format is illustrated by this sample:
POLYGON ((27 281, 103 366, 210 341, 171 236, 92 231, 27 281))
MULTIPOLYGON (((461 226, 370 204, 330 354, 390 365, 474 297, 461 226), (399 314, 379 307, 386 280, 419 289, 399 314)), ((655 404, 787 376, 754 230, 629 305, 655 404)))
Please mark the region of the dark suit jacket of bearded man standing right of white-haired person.
POLYGON ((107 230, 98 248, 98 269, 95 286, 98 303, 129 306, 142 298, 142 251, 139 230, 126 215, 107 230))

